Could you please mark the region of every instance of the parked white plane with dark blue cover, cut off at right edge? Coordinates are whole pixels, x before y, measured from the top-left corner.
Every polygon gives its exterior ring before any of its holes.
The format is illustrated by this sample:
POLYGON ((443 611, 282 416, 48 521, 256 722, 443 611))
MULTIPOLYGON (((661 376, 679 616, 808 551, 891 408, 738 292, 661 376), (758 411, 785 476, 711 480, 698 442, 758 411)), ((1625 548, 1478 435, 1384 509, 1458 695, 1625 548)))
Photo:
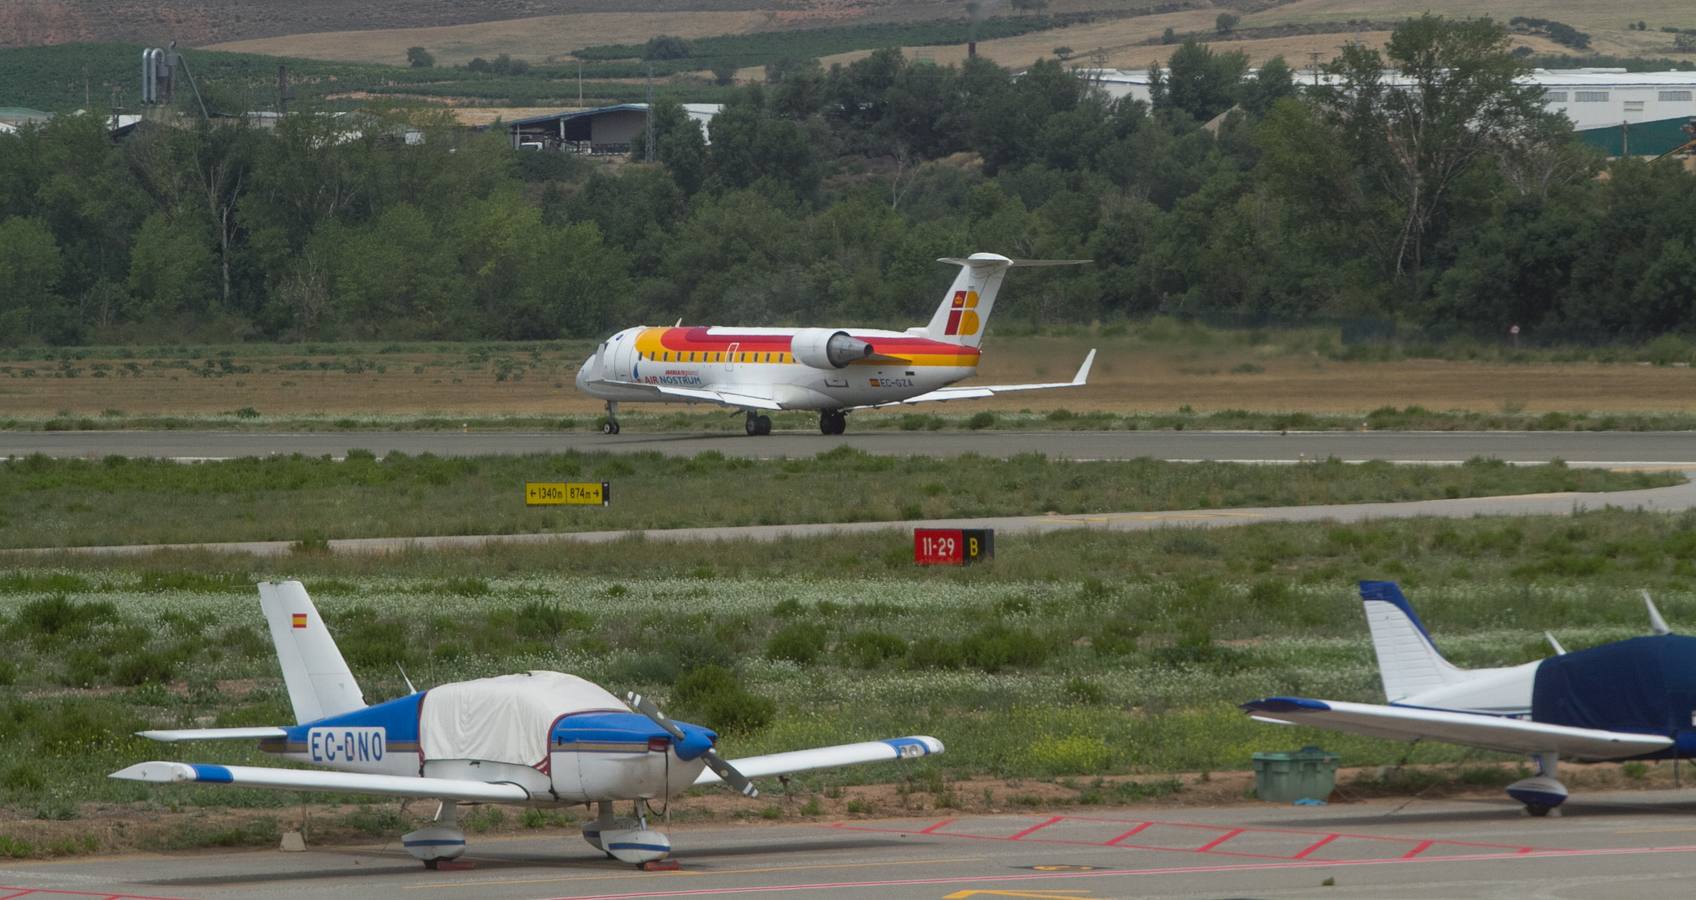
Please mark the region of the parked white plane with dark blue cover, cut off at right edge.
POLYGON ((1496 669, 1462 669, 1431 642, 1392 581, 1362 581, 1372 649, 1389 705, 1267 697, 1243 703, 1260 722, 1523 753, 1537 775, 1508 785, 1531 815, 1567 798, 1560 758, 1682 759, 1696 756, 1696 637, 1672 634, 1649 593, 1654 636, 1496 669))

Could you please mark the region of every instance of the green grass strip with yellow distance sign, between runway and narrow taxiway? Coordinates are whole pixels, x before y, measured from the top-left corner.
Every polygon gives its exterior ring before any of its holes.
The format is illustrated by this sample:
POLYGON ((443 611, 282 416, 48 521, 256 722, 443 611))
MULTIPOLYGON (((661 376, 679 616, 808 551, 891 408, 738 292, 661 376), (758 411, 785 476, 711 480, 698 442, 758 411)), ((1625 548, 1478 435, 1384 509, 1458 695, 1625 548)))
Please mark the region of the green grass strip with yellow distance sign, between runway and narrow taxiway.
POLYGON ((1674 475, 1560 464, 1240 466, 899 459, 841 447, 804 459, 650 454, 434 458, 349 451, 180 464, 32 456, 0 466, 0 547, 628 531, 985 515, 1355 503, 1626 490, 1674 475), (611 481, 611 507, 522 503, 522 483, 611 481))

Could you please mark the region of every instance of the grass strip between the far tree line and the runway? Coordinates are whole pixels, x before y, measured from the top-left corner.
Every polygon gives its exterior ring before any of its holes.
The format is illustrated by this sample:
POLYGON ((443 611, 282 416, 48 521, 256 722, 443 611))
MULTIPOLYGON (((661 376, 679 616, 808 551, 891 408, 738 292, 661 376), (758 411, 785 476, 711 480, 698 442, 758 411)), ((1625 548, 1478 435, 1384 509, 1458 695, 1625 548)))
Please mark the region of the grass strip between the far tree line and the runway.
MULTIPOLYGON (((1587 427, 1606 415, 1616 417, 1615 427, 1640 427, 1625 420, 1632 414, 1689 427, 1681 419, 1696 414, 1696 347, 1677 337, 1640 347, 1511 351, 1470 342, 1343 346, 1326 329, 1211 331, 1169 320, 1048 336, 1006 329, 985 342, 977 380, 1067 380, 1091 347, 1099 356, 1085 388, 863 410, 851 427, 929 427, 911 419, 928 414, 958 425, 979 412, 1001 414, 994 427, 1002 427, 1019 422, 1019 410, 1035 420, 1055 410, 1135 415, 1143 417, 1140 427, 1204 427, 1223 410, 1267 414, 1262 427, 1396 427, 1398 417, 1382 414, 1367 422, 1384 407, 1430 410, 1423 420, 1433 427, 1448 412, 1472 414, 1448 417, 1448 427, 1550 427, 1537 425, 1545 414, 1594 414, 1587 427), (1314 419, 1291 422, 1287 414, 1314 419)), ((366 417, 378 427, 404 427, 397 419, 499 427, 502 417, 524 417, 519 427, 560 427, 561 419, 594 427, 602 405, 573 386, 590 349, 587 341, 560 341, 0 351, 0 427, 136 427, 159 417, 222 417, 210 422, 219 427, 371 427, 366 417)), ((661 427, 741 427, 699 407, 680 420, 672 415, 689 407, 628 408, 672 422, 661 427)), ((806 415, 792 419, 780 425, 816 427, 806 415)))

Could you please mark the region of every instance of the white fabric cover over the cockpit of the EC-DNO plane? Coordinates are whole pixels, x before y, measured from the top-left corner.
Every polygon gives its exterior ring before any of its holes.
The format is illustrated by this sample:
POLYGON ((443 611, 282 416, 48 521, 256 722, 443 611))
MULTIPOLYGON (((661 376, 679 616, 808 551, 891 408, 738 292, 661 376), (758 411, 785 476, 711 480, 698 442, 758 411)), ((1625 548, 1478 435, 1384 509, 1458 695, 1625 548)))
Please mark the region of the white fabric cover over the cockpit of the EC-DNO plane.
POLYGON ((594 681, 558 671, 497 675, 431 688, 419 710, 424 759, 482 759, 539 766, 548 731, 573 712, 628 712, 594 681))

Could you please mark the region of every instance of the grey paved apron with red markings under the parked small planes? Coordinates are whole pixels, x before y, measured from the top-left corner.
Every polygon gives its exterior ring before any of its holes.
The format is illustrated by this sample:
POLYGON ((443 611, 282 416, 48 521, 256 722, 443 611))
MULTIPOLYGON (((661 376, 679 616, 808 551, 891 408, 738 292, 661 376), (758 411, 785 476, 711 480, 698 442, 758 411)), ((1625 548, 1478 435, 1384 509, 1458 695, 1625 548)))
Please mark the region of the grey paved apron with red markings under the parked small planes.
POLYGON ((555 831, 471 836, 465 871, 393 844, 7 863, 0 897, 1587 898, 1682 897, 1696 878, 1696 792, 1577 795, 1564 812, 1492 798, 716 824, 673 829, 682 869, 667 873, 555 831))

